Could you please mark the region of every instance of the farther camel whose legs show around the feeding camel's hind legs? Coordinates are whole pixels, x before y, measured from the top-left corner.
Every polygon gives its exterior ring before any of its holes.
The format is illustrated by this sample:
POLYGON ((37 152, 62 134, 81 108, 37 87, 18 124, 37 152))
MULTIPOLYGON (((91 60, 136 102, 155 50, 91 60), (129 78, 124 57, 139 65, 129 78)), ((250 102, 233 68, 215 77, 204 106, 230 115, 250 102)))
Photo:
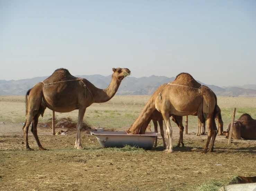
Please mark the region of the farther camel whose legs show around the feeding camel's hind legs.
MULTIPOLYGON (((215 119, 218 122, 218 132, 219 135, 223 135, 223 121, 221 118, 221 110, 220 107, 217 105, 217 113, 215 113, 215 119)), ((198 123, 197 123, 197 132, 195 135, 200 136, 200 132, 202 135, 206 134, 205 131, 205 123, 201 123, 201 121, 198 119, 198 123), (201 127, 202 127, 202 132, 201 132, 201 127)))

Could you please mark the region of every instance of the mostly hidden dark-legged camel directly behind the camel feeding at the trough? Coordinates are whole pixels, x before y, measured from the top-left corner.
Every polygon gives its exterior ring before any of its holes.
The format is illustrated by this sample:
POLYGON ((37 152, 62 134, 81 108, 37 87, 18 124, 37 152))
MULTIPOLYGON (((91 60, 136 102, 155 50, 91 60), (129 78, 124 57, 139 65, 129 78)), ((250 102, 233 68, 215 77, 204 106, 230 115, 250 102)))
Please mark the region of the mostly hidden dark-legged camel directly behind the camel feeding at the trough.
MULTIPOLYGON (((170 119, 172 121, 174 121, 180 129, 180 139, 179 139, 177 147, 180 146, 180 143, 182 144, 182 147, 184 147, 184 143, 183 143, 184 127, 182 125, 182 116, 170 115, 170 119)), ((149 118, 142 124, 142 127, 140 129, 140 134, 145 134, 146 130, 151 131, 151 129, 150 129, 151 128, 151 123, 150 123, 151 120, 153 121, 155 132, 158 132, 157 122, 159 123, 160 134, 161 134, 163 142, 164 142, 164 149, 166 149, 165 132, 164 132, 164 125, 163 125, 163 120, 164 119, 162 117, 162 114, 159 111, 155 110, 155 111, 153 111, 153 113, 151 113, 149 118)), ((156 137, 156 140, 155 140, 154 147, 156 147, 156 146, 157 146, 157 137, 156 137)))

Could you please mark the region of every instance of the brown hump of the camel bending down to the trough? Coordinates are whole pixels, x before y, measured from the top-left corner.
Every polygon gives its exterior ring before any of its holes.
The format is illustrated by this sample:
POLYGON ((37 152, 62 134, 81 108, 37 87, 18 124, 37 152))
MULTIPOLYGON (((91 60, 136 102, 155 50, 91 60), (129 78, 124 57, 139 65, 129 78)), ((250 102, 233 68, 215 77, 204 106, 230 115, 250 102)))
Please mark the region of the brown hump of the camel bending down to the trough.
POLYGON ((175 80, 170 82, 171 84, 178 84, 183 86, 189 86, 193 88, 200 88, 201 84, 198 83, 189 73, 180 73, 176 76, 175 80))

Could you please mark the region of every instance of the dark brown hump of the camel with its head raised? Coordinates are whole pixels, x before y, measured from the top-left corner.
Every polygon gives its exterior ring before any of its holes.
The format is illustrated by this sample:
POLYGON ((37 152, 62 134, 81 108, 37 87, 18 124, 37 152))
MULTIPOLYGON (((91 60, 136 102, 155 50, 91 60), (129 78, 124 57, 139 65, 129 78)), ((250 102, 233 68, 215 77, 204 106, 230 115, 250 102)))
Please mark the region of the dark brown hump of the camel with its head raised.
POLYGON ((45 84, 60 82, 65 80, 75 80, 76 77, 72 76, 67 69, 59 68, 55 70, 50 77, 44 80, 45 84))

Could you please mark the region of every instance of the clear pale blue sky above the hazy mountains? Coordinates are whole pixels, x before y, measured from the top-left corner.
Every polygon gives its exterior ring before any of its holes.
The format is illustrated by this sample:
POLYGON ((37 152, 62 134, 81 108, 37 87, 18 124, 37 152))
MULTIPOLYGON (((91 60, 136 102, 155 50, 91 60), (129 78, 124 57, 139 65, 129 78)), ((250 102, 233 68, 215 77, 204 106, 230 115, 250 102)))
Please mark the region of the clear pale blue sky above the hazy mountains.
POLYGON ((0 80, 113 67, 256 84, 256 1, 0 0, 0 80))

